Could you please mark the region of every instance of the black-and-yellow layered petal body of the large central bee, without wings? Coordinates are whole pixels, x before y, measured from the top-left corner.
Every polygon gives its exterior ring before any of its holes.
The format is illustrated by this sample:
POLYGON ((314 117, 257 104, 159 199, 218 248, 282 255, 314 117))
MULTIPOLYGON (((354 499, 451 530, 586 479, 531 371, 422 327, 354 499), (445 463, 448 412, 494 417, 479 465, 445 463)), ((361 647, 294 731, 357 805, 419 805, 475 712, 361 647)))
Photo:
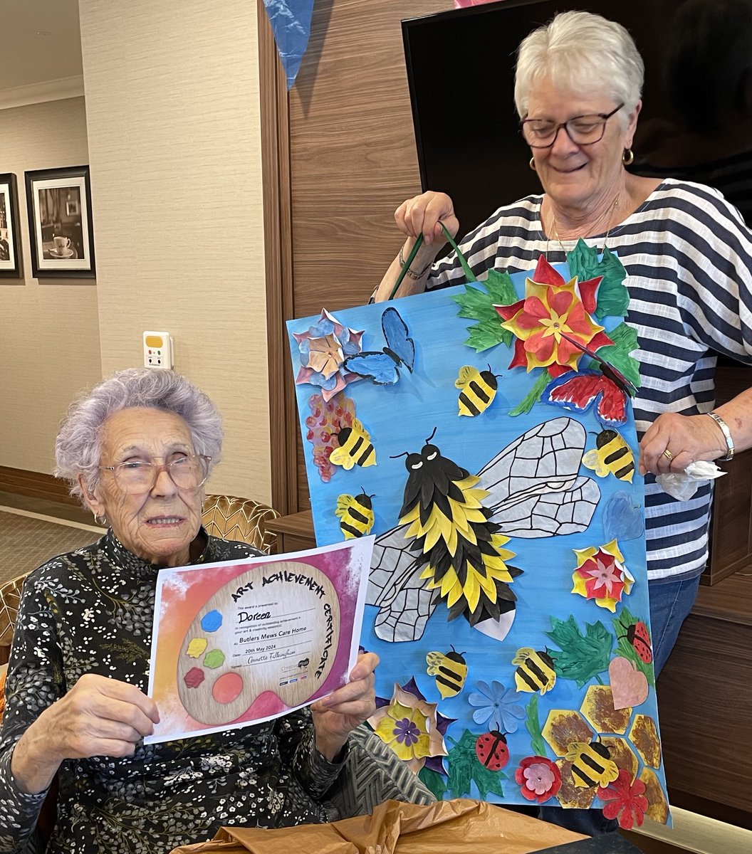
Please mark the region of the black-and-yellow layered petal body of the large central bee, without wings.
POLYGON ((405 536, 414 537, 414 565, 435 591, 434 603, 447 605, 447 619, 462 615, 471 626, 499 621, 514 611, 509 583, 522 570, 506 564, 514 553, 503 547, 509 538, 496 533, 499 525, 489 522, 493 511, 481 504, 488 493, 474 488, 480 478, 443 457, 430 444, 433 433, 420 453, 406 454, 400 522, 409 525, 405 536))

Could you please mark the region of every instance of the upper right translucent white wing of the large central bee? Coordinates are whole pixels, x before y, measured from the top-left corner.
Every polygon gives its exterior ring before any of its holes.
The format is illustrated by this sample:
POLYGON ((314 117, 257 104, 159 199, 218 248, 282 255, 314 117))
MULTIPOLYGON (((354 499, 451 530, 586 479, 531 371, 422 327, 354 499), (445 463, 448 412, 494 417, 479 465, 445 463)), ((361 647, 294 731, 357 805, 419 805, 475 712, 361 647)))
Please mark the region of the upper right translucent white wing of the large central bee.
POLYGON ((585 530, 601 498, 578 474, 585 427, 573 418, 544 421, 510 442, 480 471, 491 519, 508 536, 544 537, 585 530))

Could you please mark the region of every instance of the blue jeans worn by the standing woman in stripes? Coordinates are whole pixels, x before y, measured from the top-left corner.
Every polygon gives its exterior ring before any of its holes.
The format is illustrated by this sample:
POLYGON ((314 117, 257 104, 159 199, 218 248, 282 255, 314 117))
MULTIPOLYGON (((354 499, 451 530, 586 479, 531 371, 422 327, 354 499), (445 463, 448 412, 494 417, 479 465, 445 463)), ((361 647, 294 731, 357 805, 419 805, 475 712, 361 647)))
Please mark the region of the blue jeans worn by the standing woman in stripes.
MULTIPOLYGON (((650 631, 653 640, 655 676, 663 670, 684 619, 695 604, 700 576, 650 582, 650 631)), ((563 810, 560 806, 542 806, 538 817, 558 824, 576 834, 599 836, 619 828, 616 819, 603 816, 601 810, 563 810)))

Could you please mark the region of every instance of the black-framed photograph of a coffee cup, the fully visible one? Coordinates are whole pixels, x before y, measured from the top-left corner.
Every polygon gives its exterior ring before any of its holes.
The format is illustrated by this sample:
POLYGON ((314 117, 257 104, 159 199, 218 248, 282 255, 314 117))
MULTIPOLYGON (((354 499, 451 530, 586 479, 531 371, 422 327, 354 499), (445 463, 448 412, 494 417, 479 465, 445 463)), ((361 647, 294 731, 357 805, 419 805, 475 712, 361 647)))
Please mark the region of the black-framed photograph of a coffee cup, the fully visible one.
POLYGON ((89 167, 26 173, 35 278, 94 278, 89 167))

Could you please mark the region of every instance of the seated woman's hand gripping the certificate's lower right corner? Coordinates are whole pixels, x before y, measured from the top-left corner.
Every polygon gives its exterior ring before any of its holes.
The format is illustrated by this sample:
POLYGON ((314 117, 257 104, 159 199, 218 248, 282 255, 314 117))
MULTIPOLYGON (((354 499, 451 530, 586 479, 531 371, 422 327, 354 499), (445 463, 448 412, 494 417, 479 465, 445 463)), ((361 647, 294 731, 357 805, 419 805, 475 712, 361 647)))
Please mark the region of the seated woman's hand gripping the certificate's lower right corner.
POLYGON ((311 706, 316 732, 316 749, 330 762, 337 757, 350 732, 376 711, 373 671, 379 664, 375 652, 358 656, 347 685, 311 706))

